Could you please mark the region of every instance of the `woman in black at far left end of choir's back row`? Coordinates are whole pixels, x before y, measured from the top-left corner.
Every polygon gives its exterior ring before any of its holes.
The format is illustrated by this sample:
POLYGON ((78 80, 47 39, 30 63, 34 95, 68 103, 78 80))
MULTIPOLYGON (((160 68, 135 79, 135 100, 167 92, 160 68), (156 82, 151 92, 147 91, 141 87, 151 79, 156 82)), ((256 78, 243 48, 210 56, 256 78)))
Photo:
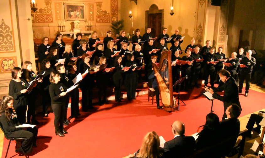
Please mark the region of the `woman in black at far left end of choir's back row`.
POLYGON ((49 50, 51 48, 51 45, 49 45, 49 38, 43 37, 41 40, 41 44, 38 47, 38 56, 39 56, 39 62, 41 63, 43 59, 47 58, 47 55, 49 53, 49 50))

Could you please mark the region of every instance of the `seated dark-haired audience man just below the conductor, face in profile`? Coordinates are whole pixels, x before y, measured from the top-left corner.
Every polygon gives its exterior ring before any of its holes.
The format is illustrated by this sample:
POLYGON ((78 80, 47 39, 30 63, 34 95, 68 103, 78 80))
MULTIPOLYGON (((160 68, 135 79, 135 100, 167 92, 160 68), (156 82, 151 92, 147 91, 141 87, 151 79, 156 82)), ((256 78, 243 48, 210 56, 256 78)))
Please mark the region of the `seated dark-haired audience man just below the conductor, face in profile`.
MULTIPOLYGON (((237 136, 240 132, 240 122, 237 119, 241 114, 241 109, 236 104, 230 105, 226 111, 227 119, 220 122, 221 135, 220 138, 222 140, 229 138, 231 136, 237 136)), ((237 137, 228 141, 225 145, 221 147, 221 151, 224 152, 224 155, 227 156, 235 146, 237 137)))

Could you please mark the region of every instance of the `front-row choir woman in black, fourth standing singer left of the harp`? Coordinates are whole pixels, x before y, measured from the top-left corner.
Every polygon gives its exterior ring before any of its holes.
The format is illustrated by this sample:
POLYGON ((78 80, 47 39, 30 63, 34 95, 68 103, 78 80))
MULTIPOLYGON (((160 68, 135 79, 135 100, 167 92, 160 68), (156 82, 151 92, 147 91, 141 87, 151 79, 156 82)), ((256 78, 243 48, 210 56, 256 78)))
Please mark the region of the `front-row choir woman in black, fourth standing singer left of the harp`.
MULTIPOLYGON (((89 68, 91 67, 91 64, 89 63, 90 58, 88 54, 82 55, 82 66, 80 66, 80 73, 84 74, 89 68)), ((83 80, 80 83, 80 87, 82 90, 82 110, 84 112, 87 112, 88 109, 93 109, 92 106, 92 86, 94 83, 93 77, 91 74, 98 72, 99 69, 95 71, 89 71, 89 73, 83 78, 83 80)), ((83 75, 82 75, 83 76, 83 75)))

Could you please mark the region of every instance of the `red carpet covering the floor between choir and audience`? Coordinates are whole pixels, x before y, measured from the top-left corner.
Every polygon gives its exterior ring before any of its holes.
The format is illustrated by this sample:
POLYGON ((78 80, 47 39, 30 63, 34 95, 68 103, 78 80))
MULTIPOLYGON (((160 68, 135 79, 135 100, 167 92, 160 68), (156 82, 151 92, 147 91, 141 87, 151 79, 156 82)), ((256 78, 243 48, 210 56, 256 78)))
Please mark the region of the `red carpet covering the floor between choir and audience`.
MULTIPOLYGON (((30 157, 78 157, 78 158, 119 158, 137 151, 144 135, 156 131, 166 141, 173 139, 170 125, 180 120, 186 125, 186 135, 197 131, 203 125, 205 116, 210 112, 211 101, 200 95, 202 89, 194 89, 192 94, 181 92, 181 99, 186 106, 180 111, 166 112, 156 109, 156 103, 151 105, 147 95, 138 96, 136 100, 122 103, 111 101, 104 106, 94 106, 93 111, 84 113, 78 119, 71 119, 71 124, 65 126, 69 132, 65 137, 55 136, 53 126, 54 115, 39 118, 38 147, 33 149, 30 157)), ((264 93, 250 90, 249 96, 240 95, 242 106, 241 116, 264 108, 264 93)), ((183 104, 181 104, 183 105, 183 104)), ((222 117, 223 102, 214 100, 214 113, 222 117)), ((68 109, 70 116, 70 108, 68 109)), ((3 154, 5 156, 8 141, 4 139, 3 154)), ((15 143, 11 143, 8 157, 19 157, 14 152, 15 143)))

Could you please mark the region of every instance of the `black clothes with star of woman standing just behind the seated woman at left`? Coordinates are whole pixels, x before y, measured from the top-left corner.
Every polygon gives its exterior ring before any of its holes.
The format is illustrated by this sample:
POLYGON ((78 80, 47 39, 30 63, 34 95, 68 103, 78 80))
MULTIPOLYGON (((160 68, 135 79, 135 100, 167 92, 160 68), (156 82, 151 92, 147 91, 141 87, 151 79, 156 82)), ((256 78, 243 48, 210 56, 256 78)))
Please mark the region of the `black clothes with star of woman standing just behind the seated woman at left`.
POLYGON ((24 79, 20 79, 20 82, 14 81, 13 79, 9 83, 8 95, 14 99, 13 105, 18 116, 18 121, 21 124, 26 123, 26 110, 28 105, 28 92, 21 93, 23 89, 27 89, 29 86, 28 82, 24 79))

